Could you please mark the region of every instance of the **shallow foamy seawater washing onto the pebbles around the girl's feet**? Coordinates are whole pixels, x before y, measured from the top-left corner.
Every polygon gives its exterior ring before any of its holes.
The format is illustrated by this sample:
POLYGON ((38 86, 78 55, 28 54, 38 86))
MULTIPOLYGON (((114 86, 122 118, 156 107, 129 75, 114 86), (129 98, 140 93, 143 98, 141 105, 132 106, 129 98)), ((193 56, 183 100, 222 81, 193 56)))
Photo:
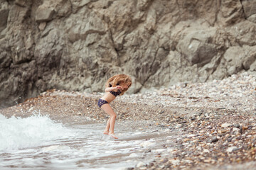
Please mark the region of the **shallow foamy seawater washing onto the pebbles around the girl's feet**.
POLYGON ((114 140, 102 135, 104 128, 63 125, 41 115, 0 115, 0 169, 124 169, 168 154, 162 145, 176 137, 168 128, 117 123, 114 140))

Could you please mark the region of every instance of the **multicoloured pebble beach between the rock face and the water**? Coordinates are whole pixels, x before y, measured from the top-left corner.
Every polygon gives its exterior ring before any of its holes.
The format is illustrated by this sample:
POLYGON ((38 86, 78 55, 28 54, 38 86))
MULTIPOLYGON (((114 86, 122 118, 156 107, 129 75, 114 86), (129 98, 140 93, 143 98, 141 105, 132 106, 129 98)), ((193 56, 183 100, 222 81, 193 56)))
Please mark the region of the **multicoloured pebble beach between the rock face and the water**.
MULTIPOLYGON (((106 123, 108 116, 97 107, 101 96, 53 89, 0 114, 10 118, 40 113, 64 124, 106 123)), ((142 160, 127 169, 256 169, 255 101, 256 75, 246 72, 117 97, 111 106, 119 125, 142 121, 139 127, 179 134, 164 139, 151 162, 142 160)))

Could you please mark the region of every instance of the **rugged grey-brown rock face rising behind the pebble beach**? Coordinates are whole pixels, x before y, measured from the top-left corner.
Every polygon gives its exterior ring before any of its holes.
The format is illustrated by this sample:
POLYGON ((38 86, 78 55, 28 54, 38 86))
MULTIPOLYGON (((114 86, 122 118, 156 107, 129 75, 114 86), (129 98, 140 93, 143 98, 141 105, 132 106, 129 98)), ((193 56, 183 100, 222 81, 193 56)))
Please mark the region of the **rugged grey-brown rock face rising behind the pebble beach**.
POLYGON ((0 106, 47 89, 132 93, 256 72, 254 0, 0 0, 0 106))

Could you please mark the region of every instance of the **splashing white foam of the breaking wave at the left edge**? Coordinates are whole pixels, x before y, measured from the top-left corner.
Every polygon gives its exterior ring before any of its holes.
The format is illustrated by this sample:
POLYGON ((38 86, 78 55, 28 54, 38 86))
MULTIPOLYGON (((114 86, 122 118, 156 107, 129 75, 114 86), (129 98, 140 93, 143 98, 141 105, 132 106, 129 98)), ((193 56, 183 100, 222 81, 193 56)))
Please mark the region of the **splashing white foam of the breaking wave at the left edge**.
POLYGON ((37 147, 43 142, 68 137, 70 131, 48 116, 31 115, 28 118, 6 118, 0 115, 0 151, 37 147))

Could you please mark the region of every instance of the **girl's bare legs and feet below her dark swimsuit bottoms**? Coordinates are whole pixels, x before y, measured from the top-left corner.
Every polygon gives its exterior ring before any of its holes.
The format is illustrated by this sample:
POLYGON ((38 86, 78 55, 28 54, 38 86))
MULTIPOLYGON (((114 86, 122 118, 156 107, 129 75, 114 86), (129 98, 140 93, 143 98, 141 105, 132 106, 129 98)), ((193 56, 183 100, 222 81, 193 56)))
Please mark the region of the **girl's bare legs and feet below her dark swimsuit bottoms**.
POLYGON ((110 107, 110 104, 108 103, 102 105, 101 108, 103 109, 103 111, 105 111, 105 113, 110 115, 110 119, 107 120, 105 131, 110 129, 109 135, 117 139, 117 137, 114 136, 114 123, 117 118, 117 114, 114 113, 113 109, 110 107))

